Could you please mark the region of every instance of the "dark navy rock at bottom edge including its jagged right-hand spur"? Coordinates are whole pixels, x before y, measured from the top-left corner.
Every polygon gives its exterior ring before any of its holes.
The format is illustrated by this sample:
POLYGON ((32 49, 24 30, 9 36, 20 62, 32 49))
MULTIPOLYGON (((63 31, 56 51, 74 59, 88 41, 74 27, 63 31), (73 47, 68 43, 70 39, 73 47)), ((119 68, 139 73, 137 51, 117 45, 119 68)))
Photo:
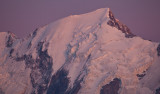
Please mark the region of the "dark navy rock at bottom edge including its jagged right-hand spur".
POLYGON ((68 71, 61 69, 52 76, 47 94, 77 94, 81 88, 81 80, 76 80, 72 88, 69 88, 70 79, 67 77, 68 71))

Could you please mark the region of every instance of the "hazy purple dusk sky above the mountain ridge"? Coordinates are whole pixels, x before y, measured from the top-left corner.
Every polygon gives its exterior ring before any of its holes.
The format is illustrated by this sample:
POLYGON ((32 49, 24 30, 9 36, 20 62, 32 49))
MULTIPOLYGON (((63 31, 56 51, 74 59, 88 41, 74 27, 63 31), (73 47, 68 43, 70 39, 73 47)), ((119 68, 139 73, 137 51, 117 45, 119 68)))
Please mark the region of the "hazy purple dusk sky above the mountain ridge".
POLYGON ((0 0, 0 32, 23 38, 69 15, 110 8, 131 32, 160 42, 160 0, 0 0))

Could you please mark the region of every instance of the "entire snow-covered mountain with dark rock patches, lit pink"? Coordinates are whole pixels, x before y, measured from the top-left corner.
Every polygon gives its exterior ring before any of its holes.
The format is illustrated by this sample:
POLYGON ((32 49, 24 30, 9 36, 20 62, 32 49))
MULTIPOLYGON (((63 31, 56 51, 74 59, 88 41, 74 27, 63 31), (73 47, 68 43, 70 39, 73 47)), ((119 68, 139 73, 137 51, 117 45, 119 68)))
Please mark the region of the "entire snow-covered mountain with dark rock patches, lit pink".
POLYGON ((160 44, 109 8, 71 15, 19 39, 0 33, 0 94, 160 94, 160 44))

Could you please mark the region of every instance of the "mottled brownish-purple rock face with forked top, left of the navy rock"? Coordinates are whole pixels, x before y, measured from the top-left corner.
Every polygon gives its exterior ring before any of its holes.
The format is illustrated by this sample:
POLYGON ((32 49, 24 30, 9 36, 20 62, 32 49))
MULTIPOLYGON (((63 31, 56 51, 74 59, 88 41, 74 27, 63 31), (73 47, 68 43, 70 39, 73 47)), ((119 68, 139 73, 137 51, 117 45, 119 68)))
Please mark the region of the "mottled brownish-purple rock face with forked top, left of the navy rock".
POLYGON ((26 68, 31 69, 32 94, 44 94, 51 79, 53 60, 48 55, 47 49, 42 51, 42 47, 43 42, 39 42, 36 59, 33 59, 32 55, 23 55, 15 59, 16 61, 25 61, 26 68))

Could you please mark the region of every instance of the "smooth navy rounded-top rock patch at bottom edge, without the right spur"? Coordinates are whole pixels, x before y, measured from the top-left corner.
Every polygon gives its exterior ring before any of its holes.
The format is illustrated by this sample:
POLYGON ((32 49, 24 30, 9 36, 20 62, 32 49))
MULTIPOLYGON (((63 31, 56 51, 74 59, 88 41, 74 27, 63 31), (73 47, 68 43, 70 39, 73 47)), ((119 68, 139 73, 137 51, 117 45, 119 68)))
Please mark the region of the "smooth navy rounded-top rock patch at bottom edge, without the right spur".
POLYGON ((66 90, 69 85, 69 78, 67 78, 68 71, 61 69, 52 76, 47 94, 67 94, 66 90))

